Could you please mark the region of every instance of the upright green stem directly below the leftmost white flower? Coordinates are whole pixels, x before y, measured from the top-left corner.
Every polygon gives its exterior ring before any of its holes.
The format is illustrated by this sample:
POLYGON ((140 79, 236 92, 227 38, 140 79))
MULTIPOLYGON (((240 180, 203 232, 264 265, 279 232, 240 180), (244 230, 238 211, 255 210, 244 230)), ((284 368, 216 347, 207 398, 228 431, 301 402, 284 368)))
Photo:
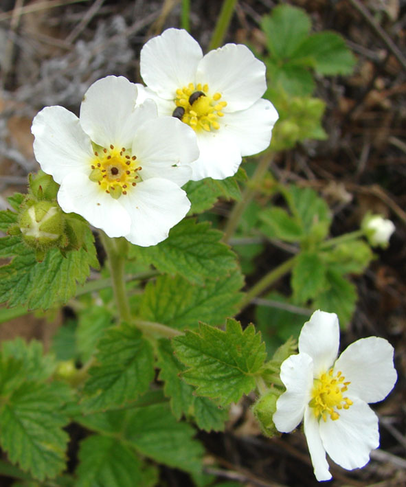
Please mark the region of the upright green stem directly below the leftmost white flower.
POLYGON ((118 315, 122 321, 131 321, 130 305, 126 293, 126 282, 124 280, 124 260, 126 258, 127 241, 124 238, 109 238, 100 231, 100 237, 111 272, 111 282, 117 306, 118 315))

